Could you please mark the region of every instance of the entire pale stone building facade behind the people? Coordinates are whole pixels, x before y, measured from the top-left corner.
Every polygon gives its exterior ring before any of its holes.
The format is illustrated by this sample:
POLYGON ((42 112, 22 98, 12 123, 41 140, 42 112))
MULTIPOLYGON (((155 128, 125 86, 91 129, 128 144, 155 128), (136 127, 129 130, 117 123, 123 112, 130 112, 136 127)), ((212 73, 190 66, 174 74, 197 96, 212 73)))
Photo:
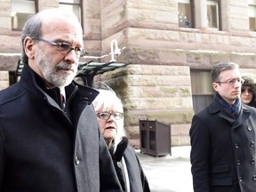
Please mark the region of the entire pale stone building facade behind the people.
MULTIPOLYGON (((59 5, 58 0, 36 0, 36 11, 59 5)), ((135 148, 140 146, 139 120, 145 118, 171 124, 172 146, 189 145, 192 116, 212 100, 209 72, 214 63, 233 61, 256 73, 256 32, 248 15, 254 5, 252 0, 81 1, 84 46, 90 55, 108 54, 112 39, 125 46, 116 60, 129 65, 94 80, 106 82, 121 96, 125 129, 135 148), (191 6, 188 26, 180 21, 184 2, 191 6), (209 27, 209 4, 213 11, 217 5, 217 28, 209 27)), ((12 0, 2 0, 0 70, 13 75, 20 31, 12 30, 11 12, 12 0)))

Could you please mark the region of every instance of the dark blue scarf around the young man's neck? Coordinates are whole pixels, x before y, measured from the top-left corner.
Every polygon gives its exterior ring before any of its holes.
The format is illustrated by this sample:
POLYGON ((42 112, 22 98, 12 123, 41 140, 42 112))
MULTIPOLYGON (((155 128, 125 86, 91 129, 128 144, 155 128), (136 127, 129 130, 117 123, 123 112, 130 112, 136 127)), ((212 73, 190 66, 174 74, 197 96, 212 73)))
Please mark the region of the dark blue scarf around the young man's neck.
POLYGON ((237 99, 234 105, 228 104, 218 92, 216 92, 214 100, 216 100, 229 114, 233 116, 238 116, 241 108, 241 100, 237 99))

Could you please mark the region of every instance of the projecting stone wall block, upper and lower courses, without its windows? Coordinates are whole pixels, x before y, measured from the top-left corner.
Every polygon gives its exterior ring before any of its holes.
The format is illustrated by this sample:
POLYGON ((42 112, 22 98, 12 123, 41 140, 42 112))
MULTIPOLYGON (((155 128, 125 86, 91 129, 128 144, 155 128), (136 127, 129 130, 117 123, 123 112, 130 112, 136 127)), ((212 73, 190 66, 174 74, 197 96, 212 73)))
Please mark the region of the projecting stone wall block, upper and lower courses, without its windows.
POLYGON ((221 6, 223 31, 201 28, 200 23, 198 28, 179 28, 176 0, 102 4, 102 54, 109 52, 110 41, 116 39, 120 47, 126 46, 117 62, 131 65, 127 74, 115 75, 115 71, 100 78, 124 97, 125 126, 134 146, 138 144, 138 119, 145 116, 172 124, 172 145, 189 144, 194 115, 190 78, 189 72, 181 75, 180 68, 211 69, 218 61, 254 68, 256 38, 248 30, 247 4, 228 0, 221 1, 221 6), (179 75, 168 74, 170 68, 179 75), (189 87, 186 96, 181 91, 184 83, 189 87))

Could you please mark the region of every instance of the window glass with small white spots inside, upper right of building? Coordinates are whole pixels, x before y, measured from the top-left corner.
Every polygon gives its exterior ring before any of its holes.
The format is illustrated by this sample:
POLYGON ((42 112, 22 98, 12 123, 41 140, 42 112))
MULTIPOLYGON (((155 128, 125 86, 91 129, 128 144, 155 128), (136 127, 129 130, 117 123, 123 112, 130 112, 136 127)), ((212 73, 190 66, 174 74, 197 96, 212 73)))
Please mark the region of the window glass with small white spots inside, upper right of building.
POLYGON ((189 0, 179 0, 178 1, 178 17, 179 17, 179 27, 180 28, 191 28, 191 7, 189 0))

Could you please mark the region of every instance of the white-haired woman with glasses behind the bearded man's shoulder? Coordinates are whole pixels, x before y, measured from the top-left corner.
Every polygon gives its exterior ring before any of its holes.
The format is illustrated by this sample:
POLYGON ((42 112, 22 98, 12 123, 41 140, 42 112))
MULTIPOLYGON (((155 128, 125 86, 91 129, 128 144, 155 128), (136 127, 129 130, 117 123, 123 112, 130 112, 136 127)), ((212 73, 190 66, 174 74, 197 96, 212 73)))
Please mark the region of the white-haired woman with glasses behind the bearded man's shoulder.
POLYGON ((108 145, 116 168, 116 174, 125 192, 149 192, 148 180, 134 149, 128 145, 124 131, 124 108, 116 92, 98 90, 93 100, 100 124, 100 132, 108 145))

